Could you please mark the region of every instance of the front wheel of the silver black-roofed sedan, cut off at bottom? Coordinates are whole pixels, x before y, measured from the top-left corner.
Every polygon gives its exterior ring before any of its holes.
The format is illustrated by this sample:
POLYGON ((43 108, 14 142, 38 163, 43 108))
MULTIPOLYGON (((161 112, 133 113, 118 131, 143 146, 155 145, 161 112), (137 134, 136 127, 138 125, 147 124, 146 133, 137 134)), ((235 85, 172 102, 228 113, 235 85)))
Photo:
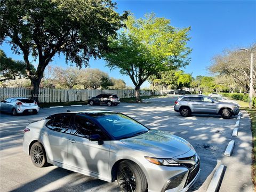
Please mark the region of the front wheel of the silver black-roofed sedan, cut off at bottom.
POLYGON ((147 179, 139 165, 131 161, 123 161, 117 170, 117 182, 123 192, 147 191, 147 179))

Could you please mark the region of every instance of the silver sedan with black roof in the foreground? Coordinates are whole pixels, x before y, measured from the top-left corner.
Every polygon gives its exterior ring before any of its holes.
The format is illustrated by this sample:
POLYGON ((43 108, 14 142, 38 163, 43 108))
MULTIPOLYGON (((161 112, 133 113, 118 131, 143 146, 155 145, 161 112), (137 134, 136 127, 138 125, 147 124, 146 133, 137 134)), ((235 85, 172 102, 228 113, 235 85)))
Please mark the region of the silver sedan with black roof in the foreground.
POLYGON ((24 129, 23 150, 47 163, 117 183, 122 191, 187 191, 200 159, 186 140, 114 111, 54 114, 24 129))

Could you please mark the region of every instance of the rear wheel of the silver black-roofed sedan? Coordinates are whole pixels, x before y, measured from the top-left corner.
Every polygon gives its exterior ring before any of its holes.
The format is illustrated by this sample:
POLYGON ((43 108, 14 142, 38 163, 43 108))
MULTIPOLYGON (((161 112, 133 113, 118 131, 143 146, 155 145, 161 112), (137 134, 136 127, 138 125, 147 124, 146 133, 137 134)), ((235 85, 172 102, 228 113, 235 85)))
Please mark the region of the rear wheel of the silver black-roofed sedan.
POLYGON ((45 150, 40 142, 35 142, 31 146, 30 157, 32 163, 37 167, 44 167, 47 165, 45 150))

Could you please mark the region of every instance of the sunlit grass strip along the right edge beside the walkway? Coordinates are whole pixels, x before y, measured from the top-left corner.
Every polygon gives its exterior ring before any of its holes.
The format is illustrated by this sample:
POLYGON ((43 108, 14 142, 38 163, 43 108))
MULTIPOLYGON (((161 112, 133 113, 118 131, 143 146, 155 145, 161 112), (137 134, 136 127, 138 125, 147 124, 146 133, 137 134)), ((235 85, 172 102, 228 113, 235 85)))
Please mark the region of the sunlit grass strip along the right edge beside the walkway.
MULTIPOLYGON (((232 98, 229 98, 232 99, 232 98)), ((235 100, 235 99, 233 99, 235 100)), ((254 184, 254 188, 256 187, 256 107, 249 109, 249 103, 236 100, 238 104, 241 106, 241 110, 246 110, 249 113, 251 118, 251 130, 252 130, 252 181, 254 184)), ((254 190, 256 191, 256 190, 254 190)))

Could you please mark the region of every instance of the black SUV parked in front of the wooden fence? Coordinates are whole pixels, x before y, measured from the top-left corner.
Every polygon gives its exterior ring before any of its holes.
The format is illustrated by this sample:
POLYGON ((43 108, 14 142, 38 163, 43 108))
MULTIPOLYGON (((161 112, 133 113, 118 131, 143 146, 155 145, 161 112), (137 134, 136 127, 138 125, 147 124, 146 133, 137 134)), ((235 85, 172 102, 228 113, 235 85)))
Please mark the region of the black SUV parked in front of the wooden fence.
POLYGON ((89 99, 88 103, 89 105, 107 104, 108 106, 117 106, 120 103, 120 99, 116 94, 99 94, 89 99))

